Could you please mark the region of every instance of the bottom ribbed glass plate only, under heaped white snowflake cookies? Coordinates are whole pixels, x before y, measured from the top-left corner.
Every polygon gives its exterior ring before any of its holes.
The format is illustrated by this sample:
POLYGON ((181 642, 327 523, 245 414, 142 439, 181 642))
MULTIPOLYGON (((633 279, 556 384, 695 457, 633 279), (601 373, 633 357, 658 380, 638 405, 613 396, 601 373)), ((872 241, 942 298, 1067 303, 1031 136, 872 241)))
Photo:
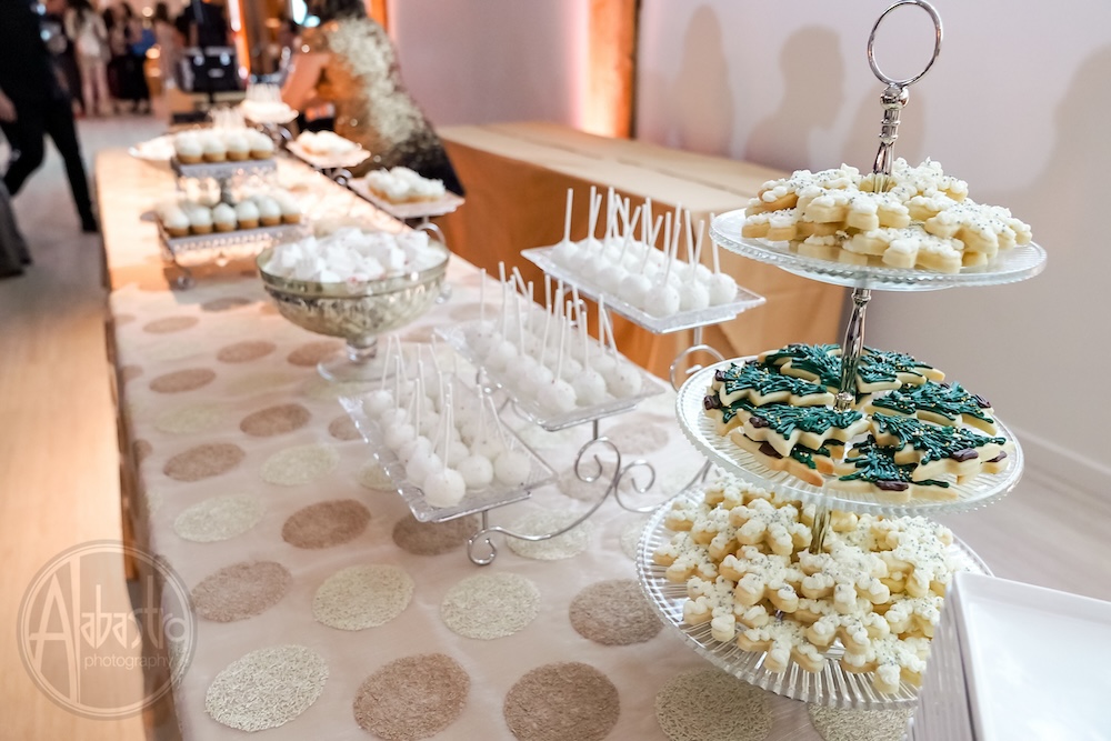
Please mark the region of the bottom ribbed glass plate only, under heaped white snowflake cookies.
MULTIPOLYGON (((697 501, 700 492, 684 491, 675 500, 697 501)), ((764 654, 744 651, 737 643, 722 643, 710 634, 710 623, 688 625, 683 622, 683 603, 687 601, 687 585, 668 581, 665 567, 657 565, 652 554, 660 545, 670 542, 674 534, 663 525, 663 520, 671 508, 667 504, 658 508, 641 535, 637 548, 637 575, 641 589, 648 595, 657 615, 665 625, 679 631, 683 641, 704 659, 738 679, 751 684, 803 702, 838 708, 855 708, 861 710, 893 710, 895 708, 913 708, 918 703, 918 688, 903 682, 899 692, 881 694, 872 687, 871 673, 854 674, 841 669, 835 661, 843 654, 840 642, 834 642, 825 653, 831 661, 825 662, 822 671, 812 673, 795 663, 783 673, 764 669, 764 654)), ((953 540, 950 552, 967 571, 991 574, 979 555, 958 539, 953 540)))

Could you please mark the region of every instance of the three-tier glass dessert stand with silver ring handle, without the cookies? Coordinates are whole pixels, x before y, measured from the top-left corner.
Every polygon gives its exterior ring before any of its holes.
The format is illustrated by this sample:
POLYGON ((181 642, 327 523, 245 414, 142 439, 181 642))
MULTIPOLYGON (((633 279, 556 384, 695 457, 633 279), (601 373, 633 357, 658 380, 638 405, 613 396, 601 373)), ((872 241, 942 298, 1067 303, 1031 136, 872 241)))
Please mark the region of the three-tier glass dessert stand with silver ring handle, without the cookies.
MULTIPOLYGON (((893 146, 898 138, 900 112, 909 98, 908 88, 922 78, 941 50, 941 19, 925 0, 899 0, 890 6, 875 21, 868 40, 868 60, 872 72, 887 87, 881 96, 883 122, 880 148, 875 157, 873 172, 881 181, 891 174, 893 146), (933 54, 919 74, 907 79, 893 79, 884 74, 873 52, 877 30, 894 9, 917 6, 925 10, 933 20, 935 40, 933 54)), ((879 189, 879 188, 878 188, 879 189)), ((1000 252, 991 263, 979 268, 963 268, 958 273, 939 273, 922 270, 903 270, 882 266, 860 266, 809 258, 792 252, 785 242, 769 242, 741 238, 744 211, 732 211, 715 218, 710 227, 710 236, 719 247, 745 258, 777 266, 788 272, 810 280, 823 281, 852 289, 852 307, 844 339, 841 344, 841 383, 834 407, 839 411, 851 409, 855 402, 855 371, 864 341, 864 317, 872 291, 930 291, 955 287, 1000 286, 1012 283, 1040 273, 1045 264, 1045 252, 1038 244, 1030 243, 1000 252)), ((1000 473, 983 474, 972 481, 951 489, 951 498, 944 501, 915 499, 893 503, 872 493, 840 491, 829 485, 814 487, 782 471, 772 471, 755 458, 733 445, 728 438, 714 432, 713 423, 704 413, 702 398, 713 379, 714 371, 728 367, 724 361, 703 368, 691 375, 679 390, 675 411, 687 438, 702 452, 709 462, 742 480, 774 490, 784 498, 794 499, 815 508, 812 549, 820 549, 829 529, 832 510, 869 512, 888 515, 939 515, 970 511, 993 502, 1010 492, 1022 474, 1023 457, 1018 440, 1000 424, 1000 434, 1014 444, 1010 465, 1000 473)), ((688 491, 680 497, 694 498, 697 492, 688 491)), ((649 601, 660 618, 677 629, 683 639, 701 655, 719 668, 763 689, 797 700, 825 705, 860 709, 912 708, 917 702, 917 688, 903 682, 893 694, 878 693, 868 674, 852 674, 842 670, 837 661, 828 661, 818 673, 803 671, 793 664, 788 671, 777 673, 764 668, 764 654, 739 649, 733 643, 721 643, 710 635, 708 624, 691 627, 683 623, 682 607, 687 599, 683 584, 669 582, 664 569, 655 565, 652 554, 668 542, 670 532, 663 527, 667 514, 660 508, 645 525, 638 550, 638 574, 649 601)), ((990 573, 987 564, 960 541, 951 547, 951 554, 963 568, 990 573)), ((834 643, 830 659, 839 659, 843 649, 834 643)))

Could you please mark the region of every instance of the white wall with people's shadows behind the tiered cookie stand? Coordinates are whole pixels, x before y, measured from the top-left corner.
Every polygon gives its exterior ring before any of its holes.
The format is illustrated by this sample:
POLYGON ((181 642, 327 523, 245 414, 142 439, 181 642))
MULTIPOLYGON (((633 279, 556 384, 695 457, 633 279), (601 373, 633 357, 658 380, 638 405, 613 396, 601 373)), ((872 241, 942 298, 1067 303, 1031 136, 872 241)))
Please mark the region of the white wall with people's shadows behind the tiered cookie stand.
MULTIPOLYGON (((882 86, 864 47, 888 4, 645 0, 639 137, 784 169, 869 168, 882 86)), ((1111 369, 1111 250, 1101 220, 1111 4, 935 7, 945 26, 941 58, 911 91, 897 152, 932 157, 978 200, 1010 207, 1032 224, 1049 266, 1015 286, 878 296, 868 341, 914 352, 982 392, 1018 428, 1033 463, 1109 483, 1102 417, 1111 397, 1094 389, 1111 369)), ((877 42, 881 67, 891 60, 902 76, 912 59, 928 58, 928 22, 913 8, 889 17, 877 42)))

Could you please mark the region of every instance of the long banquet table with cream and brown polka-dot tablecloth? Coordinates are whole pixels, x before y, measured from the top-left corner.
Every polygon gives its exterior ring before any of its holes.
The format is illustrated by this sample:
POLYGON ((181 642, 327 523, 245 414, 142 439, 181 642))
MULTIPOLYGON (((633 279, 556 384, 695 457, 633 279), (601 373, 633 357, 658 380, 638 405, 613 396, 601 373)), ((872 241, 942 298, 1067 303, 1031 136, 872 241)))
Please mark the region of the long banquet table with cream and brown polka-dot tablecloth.
MULTIPOLYGON (((196 647, 173 692, 182 738, 244 738, 208 709, 274 740, 372 738, 360 723, 398 739, 511 739, 511 727, 563 741, 820 738, 807 705, 719 672, 649 611, 632 558, 645 515, 607 501, 540 547, 496 537, 500 554, 484 568, 463 545, 473 520, 418 525, 337 403, 354 390, 312 366, 338 343, 277 316, 251 274, 169 290, 141 216, 172 191, 170 172, 108 151, 97 173, 129 524, 193 591, 196 647), (377 577, 334 589, 343 579, 328 580, 351 567, 377 577), (277 683, 216 682, 241 657, 280 647, 277 683), (313 690, 303 712, 289 710, 313 690), (264 728, 282 713, 292 717, 264 728)), ((403 341, 477 314, 478 271, 453 258, 449 281, 451 299, 403 341)), ((669 391, 601 423, 627 455, 655 465, 654 493, 635 503, 662 501, 701 464, 673 401, 669 391)), ((547 433, 508 419, 561 477, 492 521, 546 527, 584 511, 600 490, 568 471, 587 427, 547 433)), ((829 738, 868 738, 900 718, 854 717, 857 735, 829 738)))

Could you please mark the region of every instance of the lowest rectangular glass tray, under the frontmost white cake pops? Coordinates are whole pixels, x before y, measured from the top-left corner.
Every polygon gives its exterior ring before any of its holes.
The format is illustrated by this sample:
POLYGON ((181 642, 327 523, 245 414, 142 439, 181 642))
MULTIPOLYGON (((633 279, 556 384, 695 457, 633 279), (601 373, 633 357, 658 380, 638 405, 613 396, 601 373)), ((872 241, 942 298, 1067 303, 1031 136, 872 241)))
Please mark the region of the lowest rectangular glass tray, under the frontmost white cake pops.
MULTIPOLYGON (((476 393, 464 383, 456 383, 456 393, 476 393)), ((508 427, 502 427, 506 441, 510 448, 524 451, 532 463, 529 479, 523 487, 507 487, 497 481, 486 489, 468 491, 462 501, 454 507, 432 507, 424 499, 420 487, 406 479, 406 467, 382 441, 382 430, 378 422, 367 417, 361 397, 341 397, 340 404, 347 411, 362 439, 370 445, 374 459, 381 464, 396 491, 409 505, 409 510, 418 522, 446 522, 456 518, 474 514, 484 510, 511 504, 528 499, 532 490, 556 480, 556 471, 549 467, 531 448, 513 434, 508 427)))

